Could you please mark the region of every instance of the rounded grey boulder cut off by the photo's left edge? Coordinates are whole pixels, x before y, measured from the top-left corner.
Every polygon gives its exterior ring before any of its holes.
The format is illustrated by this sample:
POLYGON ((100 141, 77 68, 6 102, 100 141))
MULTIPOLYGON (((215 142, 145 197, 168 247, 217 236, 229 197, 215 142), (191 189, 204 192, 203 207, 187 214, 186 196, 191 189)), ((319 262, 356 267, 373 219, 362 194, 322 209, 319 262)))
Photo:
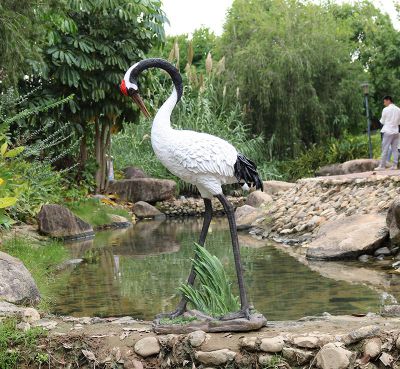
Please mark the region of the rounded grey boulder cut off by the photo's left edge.
POLYGON ((0 251, 0 299, 16 304, 37 304, 40 293, 28 269, 17 258, 0 251))

